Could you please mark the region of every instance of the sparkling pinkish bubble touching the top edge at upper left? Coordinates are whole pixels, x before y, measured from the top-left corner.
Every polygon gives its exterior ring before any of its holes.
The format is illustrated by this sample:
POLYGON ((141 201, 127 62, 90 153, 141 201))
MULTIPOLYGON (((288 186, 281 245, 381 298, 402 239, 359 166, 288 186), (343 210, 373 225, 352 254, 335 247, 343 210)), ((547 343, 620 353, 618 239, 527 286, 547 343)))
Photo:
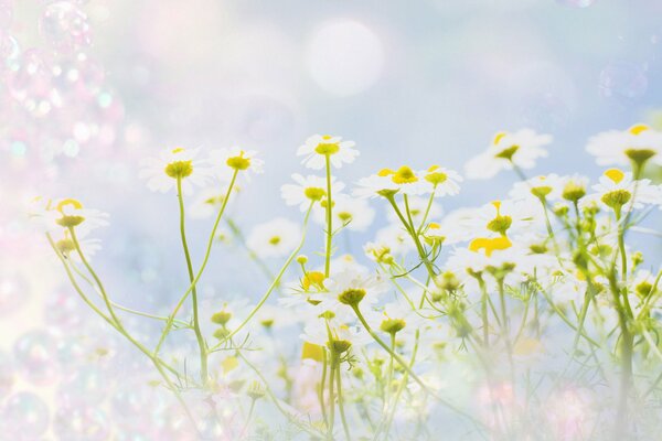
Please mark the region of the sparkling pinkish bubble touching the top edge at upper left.
POLYGON ((90 43, 87 15, 68 1, 47 4, 40 19, 39 30, 56 51, 75 52, 90 43))

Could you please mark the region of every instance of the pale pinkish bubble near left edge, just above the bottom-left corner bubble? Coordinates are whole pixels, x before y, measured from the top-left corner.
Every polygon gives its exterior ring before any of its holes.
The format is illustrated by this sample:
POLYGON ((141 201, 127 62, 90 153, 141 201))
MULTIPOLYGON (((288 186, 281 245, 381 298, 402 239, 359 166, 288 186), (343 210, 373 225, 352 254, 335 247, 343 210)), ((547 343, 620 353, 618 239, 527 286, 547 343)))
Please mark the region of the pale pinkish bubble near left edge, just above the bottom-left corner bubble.
POLYGON ((21 374, 36 385, 51 383, 56 375, 55 338, 45 331, 31 331, 14 343, 14 356, 21 374))

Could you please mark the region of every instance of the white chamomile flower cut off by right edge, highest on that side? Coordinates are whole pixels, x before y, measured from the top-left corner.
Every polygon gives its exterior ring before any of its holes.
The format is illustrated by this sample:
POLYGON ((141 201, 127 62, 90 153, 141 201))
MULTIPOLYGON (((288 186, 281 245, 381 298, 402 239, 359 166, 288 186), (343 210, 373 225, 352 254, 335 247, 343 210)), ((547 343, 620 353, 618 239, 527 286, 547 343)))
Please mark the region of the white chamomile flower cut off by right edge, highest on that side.
POLYGON ((588 140, 586 150, 598 165, 642 165, 651 159, 662 165, 662 132, 639 123, 628 130, 610 130, 588 140))

